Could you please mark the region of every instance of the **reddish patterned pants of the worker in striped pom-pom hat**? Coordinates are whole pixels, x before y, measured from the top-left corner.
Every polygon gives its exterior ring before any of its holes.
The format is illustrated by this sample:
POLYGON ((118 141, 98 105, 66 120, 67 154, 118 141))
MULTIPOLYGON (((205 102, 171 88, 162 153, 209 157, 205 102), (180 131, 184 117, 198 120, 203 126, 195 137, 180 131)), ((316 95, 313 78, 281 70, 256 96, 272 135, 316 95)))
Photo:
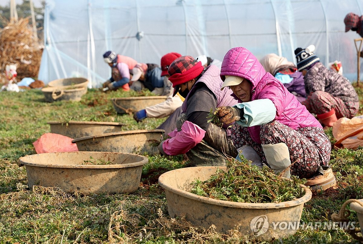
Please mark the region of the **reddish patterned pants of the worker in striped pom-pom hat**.
POLYGON ((315 91, 310 97, 311 113, 321 114, 334 108, 337 118, 347 117, 351 119, 359 108, 359 102, 344 102, 342 99, 332 96, 325 91, 315 91))

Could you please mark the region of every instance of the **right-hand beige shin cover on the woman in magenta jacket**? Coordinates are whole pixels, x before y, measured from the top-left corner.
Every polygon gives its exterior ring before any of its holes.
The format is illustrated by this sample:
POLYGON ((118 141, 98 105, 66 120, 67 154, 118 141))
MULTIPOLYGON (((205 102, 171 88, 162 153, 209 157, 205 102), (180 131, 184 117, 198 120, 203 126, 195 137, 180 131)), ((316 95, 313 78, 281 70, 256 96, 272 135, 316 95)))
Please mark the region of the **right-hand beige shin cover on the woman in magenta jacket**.
POLYGON ((291 161, 287 145, 280 142, 278 144, 262 144, 261 146, 265 153, 266 161, 275 174, 280 175, 284 171, 282 177, 290 178, 290 168, 287 169, 287 167, 291 165, 291 161))

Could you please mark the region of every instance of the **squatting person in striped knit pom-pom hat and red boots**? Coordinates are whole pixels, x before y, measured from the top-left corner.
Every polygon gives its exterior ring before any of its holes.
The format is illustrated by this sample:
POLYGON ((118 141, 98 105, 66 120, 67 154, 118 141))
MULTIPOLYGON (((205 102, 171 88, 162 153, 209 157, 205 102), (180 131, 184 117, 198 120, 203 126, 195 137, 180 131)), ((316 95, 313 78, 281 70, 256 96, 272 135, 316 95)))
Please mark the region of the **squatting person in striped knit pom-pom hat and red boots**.
POLYGON ((295 49, 297 68, 304 75, 307 99, 302 102, 326 127, 342 117, 354 117, 359 109, 358 94, 343 75, 328 69, 313 53, 314 45, 295 49))

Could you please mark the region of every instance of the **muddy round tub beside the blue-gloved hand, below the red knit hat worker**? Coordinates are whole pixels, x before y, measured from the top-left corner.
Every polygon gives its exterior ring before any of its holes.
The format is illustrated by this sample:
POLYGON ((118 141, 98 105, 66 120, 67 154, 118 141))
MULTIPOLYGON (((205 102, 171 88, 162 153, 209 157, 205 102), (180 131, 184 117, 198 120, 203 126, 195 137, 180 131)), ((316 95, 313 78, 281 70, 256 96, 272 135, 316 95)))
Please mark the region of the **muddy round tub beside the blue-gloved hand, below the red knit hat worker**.
POLYGON ((119 114, 134 113, 145 107, 164 102, 167 96, 131 96, 126 98, 111 98, 111 102, 119 114))

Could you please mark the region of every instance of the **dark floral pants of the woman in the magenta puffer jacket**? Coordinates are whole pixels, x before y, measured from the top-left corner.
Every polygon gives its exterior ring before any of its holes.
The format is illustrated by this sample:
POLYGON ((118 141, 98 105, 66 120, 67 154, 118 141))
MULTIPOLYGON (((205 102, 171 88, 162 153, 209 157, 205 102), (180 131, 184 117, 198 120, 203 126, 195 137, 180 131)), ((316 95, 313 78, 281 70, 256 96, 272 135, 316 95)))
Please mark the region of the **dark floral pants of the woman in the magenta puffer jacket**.
MULTIPOLYGON (((267 164, 261 144, 252 140, 247 127, 234 123, 231 131, 236 148, 252 146, 262 158, 262 162, 267 164)), ((290 152, 291 174, 299 178, 312 177, 320 165, 329 164, 331 143, 322 128, 306 127, 294 130, 273 121, 261 126, 260 139, 262 144, 285 143, 290 152)))

